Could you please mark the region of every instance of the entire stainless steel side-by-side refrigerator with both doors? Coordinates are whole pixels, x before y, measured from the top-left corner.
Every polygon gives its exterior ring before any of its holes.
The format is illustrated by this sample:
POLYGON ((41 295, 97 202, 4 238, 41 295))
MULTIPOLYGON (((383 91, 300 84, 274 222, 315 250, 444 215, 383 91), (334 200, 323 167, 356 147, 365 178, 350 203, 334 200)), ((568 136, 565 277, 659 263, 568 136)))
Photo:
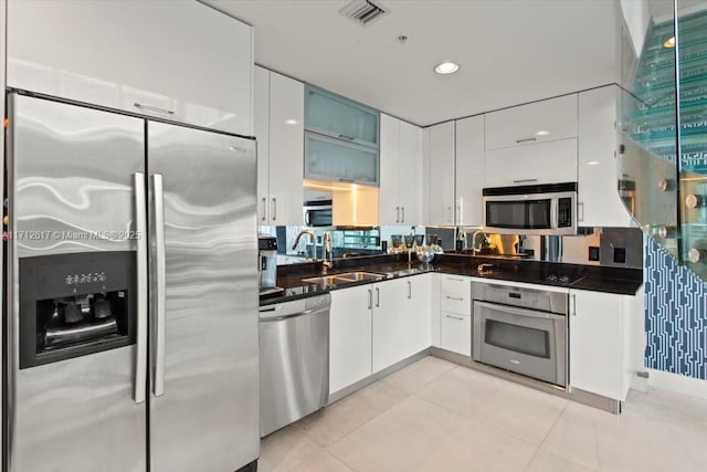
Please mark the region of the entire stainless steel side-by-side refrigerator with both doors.
POLYGON ((260 453, 255 141, 12 92, 9 472, 260 453))

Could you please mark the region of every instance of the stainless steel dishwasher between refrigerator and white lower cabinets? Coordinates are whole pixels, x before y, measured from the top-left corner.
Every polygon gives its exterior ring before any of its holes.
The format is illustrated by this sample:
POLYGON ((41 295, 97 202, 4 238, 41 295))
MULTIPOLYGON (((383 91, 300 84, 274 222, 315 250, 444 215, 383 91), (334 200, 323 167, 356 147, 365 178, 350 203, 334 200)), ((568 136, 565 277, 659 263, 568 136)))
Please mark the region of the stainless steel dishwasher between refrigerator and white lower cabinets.
POLYGON ((327 405, 329 294, 261 306, 261 437, 327 405))

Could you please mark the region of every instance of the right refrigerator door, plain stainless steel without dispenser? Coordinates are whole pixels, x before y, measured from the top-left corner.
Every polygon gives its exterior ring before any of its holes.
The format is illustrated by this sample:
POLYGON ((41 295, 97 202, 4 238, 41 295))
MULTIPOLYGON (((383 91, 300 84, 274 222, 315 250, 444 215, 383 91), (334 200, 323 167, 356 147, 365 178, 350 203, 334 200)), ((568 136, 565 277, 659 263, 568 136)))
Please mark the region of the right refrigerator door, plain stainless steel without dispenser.
POLYGON ((148 175, 150 470, 233 472, 260 453, 255 141, 150 122, 148 175))

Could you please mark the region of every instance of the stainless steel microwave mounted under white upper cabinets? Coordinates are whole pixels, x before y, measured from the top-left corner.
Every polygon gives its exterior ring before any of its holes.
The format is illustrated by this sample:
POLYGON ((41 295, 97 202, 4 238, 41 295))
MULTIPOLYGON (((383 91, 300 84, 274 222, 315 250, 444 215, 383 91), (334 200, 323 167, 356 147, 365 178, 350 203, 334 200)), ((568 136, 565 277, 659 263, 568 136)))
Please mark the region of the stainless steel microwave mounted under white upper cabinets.
POLYGON ((576 234, 577 182, 485 188, 484 230, 500 234, 576 234))

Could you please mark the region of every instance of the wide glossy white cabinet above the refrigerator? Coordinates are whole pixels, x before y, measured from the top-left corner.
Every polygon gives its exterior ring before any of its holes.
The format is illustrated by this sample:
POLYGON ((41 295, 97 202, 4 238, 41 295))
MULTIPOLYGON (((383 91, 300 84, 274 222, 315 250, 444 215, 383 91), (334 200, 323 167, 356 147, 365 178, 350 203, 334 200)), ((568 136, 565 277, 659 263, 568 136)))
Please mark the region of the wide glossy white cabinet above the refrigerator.
POLYGON ((10 1, 8 85, 252 135, 252 28, 197 1, 10 1))

